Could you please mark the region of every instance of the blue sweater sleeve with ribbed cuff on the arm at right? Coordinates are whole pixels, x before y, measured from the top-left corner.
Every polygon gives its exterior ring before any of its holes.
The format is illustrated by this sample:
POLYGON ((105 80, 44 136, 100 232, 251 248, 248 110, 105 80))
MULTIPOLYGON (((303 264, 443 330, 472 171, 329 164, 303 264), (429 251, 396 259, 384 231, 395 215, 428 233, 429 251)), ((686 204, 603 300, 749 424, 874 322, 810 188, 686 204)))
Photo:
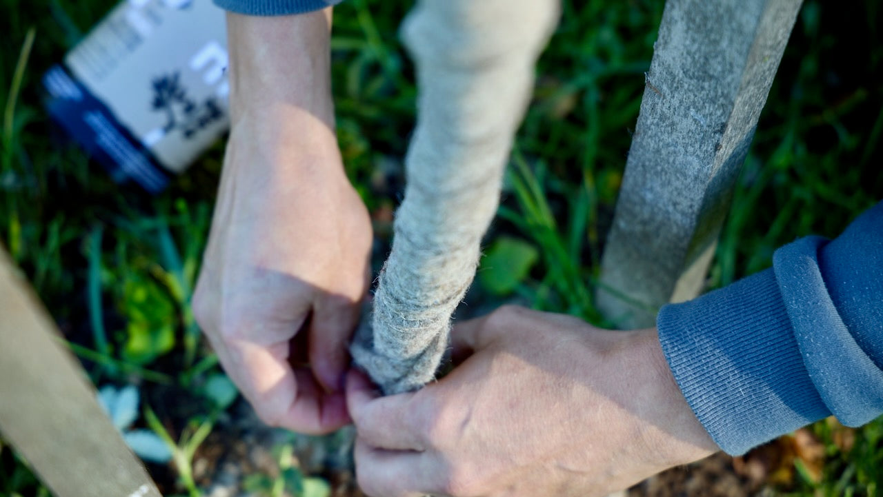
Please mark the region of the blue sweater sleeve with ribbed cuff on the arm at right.
POLYGON ((773 267, 657 318, 675 380, 728 454, 834 414, 883 414, 883 202, 833 241, 805 237, 773 267))

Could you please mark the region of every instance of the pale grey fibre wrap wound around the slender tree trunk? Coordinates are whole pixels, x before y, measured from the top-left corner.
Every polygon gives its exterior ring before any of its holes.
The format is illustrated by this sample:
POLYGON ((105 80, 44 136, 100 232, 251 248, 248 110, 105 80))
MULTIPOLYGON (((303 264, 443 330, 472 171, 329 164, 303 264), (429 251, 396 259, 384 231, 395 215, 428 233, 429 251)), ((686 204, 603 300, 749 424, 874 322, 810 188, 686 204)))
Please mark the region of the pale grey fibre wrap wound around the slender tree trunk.
POLYGON ((421 0, 404 20, 419 117, 392 251, 370 325, 351 347, 388 395, 434 379, 451 313, 472 282, 496 212, 534 64, 558 15, 557 0, 421 0))

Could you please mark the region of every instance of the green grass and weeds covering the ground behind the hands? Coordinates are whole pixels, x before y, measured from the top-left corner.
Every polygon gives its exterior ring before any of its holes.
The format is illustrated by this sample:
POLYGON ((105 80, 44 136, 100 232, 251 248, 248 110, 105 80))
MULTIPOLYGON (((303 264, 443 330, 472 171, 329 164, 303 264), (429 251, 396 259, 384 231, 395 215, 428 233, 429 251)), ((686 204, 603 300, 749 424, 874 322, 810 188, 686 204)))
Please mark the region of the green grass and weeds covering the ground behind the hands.
MULTIPOLYGON (((200 342, 188 303, 223 145, 152 198, 113 184, 60 141, 41 107, 42 73, 115 3, 0 0, 7 40, 0 48, 0 241, 96 384, 172 385, 202 398, 200 385, 220 371, 200 342)), ((414 119, 411 63, 396 40, 409 4, 347 0, 336 9, 338 138, 347 172, 375 214, 399 199, 400 182, 378 186, 378 171, 400 169, 414 119)), ((571 0, 564 6, 562 25, 540 61, 534 102, 487 244, 515 237, 540 254, 513 294, 496 298, 521 297, 540 309, 600 322, 592 292, 662 3, 571 0)), ((739 177, 711 287, 769 267, 774 250, 796 237, 836 236, 883 198, 879 26, 883 12, 875 0, 836 7, 807 0, 739 177)), ((382 217, 375 217, 378 233, 385 233, 382 217)), ((188 416, 151 405, 157 429, 189 444, 182 461, 192 458, 192 441, 212 429, 200 419, 215 407, 196 405, 188 416)), ((883 420, 854 432, 850 445, 828 422, 811 431, 825 448, 820 476, 797 458, 795 478, 778 492, 883 493, 883 420)), ((185 485, 175 492, 198 492, 191 473, 177 475, 185 485)), ((0 495, 45 493, 10 448, 0 446, 0 495)))

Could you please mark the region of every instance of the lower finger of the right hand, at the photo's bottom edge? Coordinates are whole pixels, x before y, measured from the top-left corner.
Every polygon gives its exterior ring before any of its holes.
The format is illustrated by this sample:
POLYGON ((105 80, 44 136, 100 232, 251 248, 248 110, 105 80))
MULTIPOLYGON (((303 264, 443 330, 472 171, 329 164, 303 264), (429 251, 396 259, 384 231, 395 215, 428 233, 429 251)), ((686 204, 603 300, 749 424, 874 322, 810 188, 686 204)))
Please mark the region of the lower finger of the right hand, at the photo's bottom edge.
POLYGON ((371 447, 359 436, 353 450, 356 478, 371 497, 418 497, 430 493, 434 470, 428 456, 419 452, 371 447))

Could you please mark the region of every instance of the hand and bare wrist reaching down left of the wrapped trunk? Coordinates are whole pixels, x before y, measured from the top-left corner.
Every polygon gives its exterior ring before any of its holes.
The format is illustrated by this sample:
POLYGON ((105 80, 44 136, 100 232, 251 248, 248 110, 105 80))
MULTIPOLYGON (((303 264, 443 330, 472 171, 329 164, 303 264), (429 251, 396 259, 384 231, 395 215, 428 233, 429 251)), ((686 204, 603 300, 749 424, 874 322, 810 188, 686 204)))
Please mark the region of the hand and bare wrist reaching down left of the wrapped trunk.
POLYGON ((193 296, 260 418, 304 433, 349 422, 343 375, 372 243, 337 149, 328 23, 230 15, 232 126, 193 296))

